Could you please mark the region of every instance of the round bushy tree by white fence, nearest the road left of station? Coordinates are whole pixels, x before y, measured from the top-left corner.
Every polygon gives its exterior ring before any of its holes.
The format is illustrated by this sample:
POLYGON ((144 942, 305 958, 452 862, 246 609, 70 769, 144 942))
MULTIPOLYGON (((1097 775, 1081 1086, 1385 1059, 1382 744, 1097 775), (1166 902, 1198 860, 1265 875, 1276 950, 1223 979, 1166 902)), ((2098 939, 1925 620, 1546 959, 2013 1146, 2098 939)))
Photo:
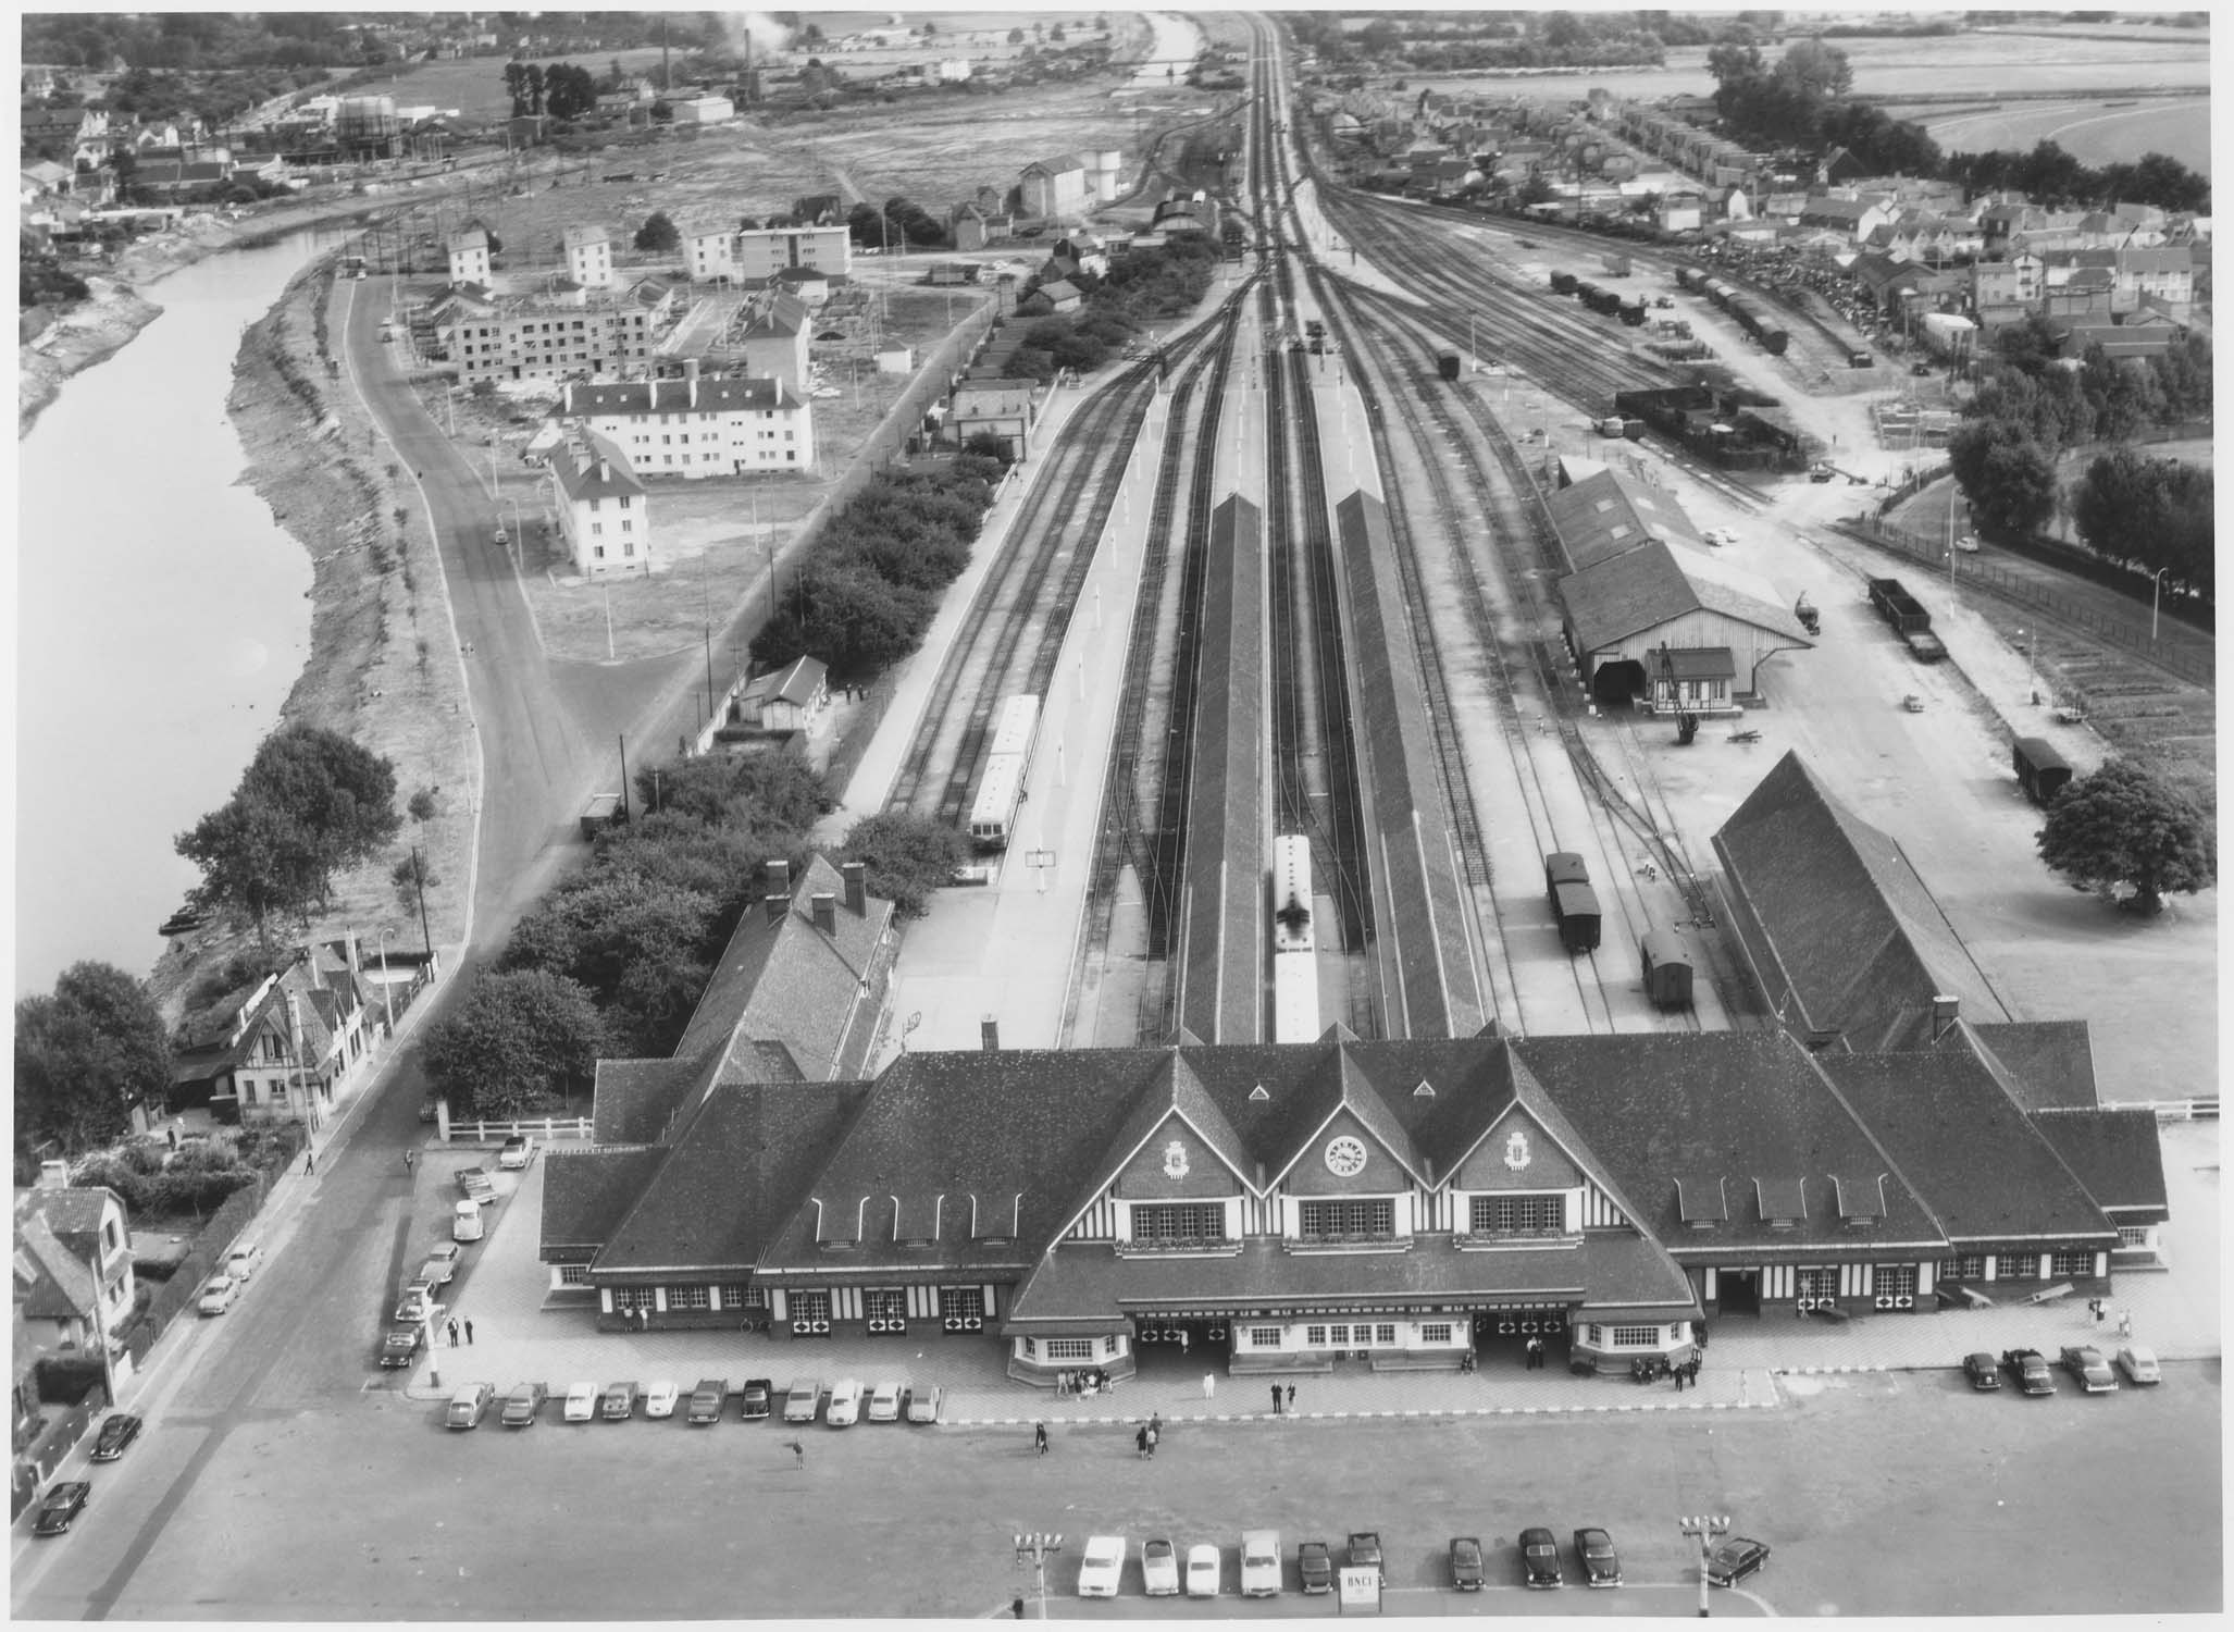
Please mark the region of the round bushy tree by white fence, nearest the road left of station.
POLYGON ((427 1035, 427 1082, 458 1116, 512 1118, 585 1089, 608 1051, 605 1022, 579 981, 525 968, 483 975, 427 1035))

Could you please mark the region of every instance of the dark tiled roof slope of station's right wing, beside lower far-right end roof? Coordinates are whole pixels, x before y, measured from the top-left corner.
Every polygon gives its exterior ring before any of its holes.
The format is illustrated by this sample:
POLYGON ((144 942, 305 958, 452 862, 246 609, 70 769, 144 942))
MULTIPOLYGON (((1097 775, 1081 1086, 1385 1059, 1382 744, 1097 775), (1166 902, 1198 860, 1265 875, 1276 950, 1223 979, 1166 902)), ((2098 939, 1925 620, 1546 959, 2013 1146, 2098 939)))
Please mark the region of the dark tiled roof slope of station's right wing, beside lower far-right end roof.
POLYGON ((1953 1241, 2109 1232, 2044 1131, 1975 1057, 1823 1055, 1823 1071, 1953 1241))

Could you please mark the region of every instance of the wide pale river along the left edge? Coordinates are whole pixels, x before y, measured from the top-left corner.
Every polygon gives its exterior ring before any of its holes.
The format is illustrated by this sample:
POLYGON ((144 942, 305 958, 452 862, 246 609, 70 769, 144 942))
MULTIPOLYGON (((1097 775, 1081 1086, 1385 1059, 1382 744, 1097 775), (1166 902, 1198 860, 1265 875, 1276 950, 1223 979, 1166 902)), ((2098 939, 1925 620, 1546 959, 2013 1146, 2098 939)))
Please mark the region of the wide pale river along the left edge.
POLYGON ((232 791, 311 648, 311 559, 248 487, 226 418, 241 326, 299 233, 145 293, 163 315, 20 443, 16 995, 76 959, 141 975, 197 872, 172 838, 232 791))

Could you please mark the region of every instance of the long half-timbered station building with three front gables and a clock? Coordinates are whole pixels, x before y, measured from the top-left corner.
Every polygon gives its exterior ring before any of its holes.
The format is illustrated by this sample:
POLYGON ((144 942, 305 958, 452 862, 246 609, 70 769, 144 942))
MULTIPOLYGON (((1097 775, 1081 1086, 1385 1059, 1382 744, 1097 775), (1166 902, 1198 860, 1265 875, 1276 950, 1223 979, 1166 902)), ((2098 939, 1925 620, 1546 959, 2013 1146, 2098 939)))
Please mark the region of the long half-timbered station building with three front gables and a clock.
POLYGON ((543 1259, 601 1326, 994 1335, 1032 1384, 1128 1375, 1177 1332, 1235 1373, 1459 1366, 1539 1330, 1626 1370, 1689 1357, 1709 1315, 2107 1290, 2089 1183, 2147 1205, 2145 1171, 2044 1136, 1975 1033, 1915 1062, 1780 1031, 1334 1028, 911 1053, 643 1109, 599 1127, 639 1142, 545 1176, 543 1259))

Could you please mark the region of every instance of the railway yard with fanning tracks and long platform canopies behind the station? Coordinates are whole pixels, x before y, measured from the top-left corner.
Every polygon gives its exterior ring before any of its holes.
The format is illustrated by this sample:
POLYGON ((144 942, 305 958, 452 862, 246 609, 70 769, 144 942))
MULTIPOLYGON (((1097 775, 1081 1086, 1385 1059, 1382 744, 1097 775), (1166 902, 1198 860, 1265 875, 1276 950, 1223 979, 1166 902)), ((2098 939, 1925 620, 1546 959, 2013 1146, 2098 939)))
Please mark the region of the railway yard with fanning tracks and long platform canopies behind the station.
MULTIPOLYGON (((1546 478, 1579 456, 1669 492, 1698 523, 1734 521, 1707 530, 1734 545, 1722 563, 1774 579, 1785 601, 1798 590, 1832 606, 1825 646, 1868 639, 1848 613, 1861 579, 1890 568, 1830 530, 1863 507, 1850 483, 1805 481, 1810 461, 1836 458, 1870 485, 1906 469, 1872 445, 1854 333, 1836 313, 1772 317, 1760 291, 1631 246, 1606 257, 1602 239, 1562 228, 1320 188, 1264 72, 1278 60, 1269 29, 1256 51, 1264 89, 1229 163, 1256 253, 1157 355, 1070 405, 954 639, 916 660, 920 718, 887 722, 909 729, 898 774, 847 794, 853 814, 970 827, 994 885, 947 892, 909 937, 882 1055, 903 1024, 929 1026, 918 1049, 976 1046, 996 1015, 1003 1042, 1034 1046, 1262 1042, 1334 1024, 1361 1037, 1774 1024, 1718 923, 1713 827, 1780 747, 1810 738, 1834 744, 1810 765, 1850 780, 1881 820, 1912 803, 1912 789, 1874 798, 1901 780, 1897 762, 1928 785, 1939 744, 1926 738, 1955 720, 1910 727, 1903 751, 1879 756, 1894 765, 1841 771, 1843 715, 1859 702, 1874 736, 1877 711, 1912 684, 1897 644, 1872 644, 1870 675, 1827 691, 1805 677, 1825 653, 1794 651, 1729 731, 1709 724, 1684 747, 1667 715, 1593 706, 1562 642, 1555 583, 1575 563, 1546 478), (1559 266, 1617 266, 1620 300, 1548 293, 1577 284, 1548 277, 1559 266), (1765 416, 1794 427, 1767 461, 1731 469, 1635 429, 1600 440, 1615 396, 1689 378, 1653 351, 1678 326, 1743 391, 1789 409, 1765 416), (1126 619, 1095 642, 1079 630, 1090 583, 1095 630, 1126 619), (1070 689, 1092 702, 1066 727, 1050 693, 1070 689), (1039 736, 1061 738, 1059 765, 1030 740, 994 753, 1021 698, 1034 718, 1048 700, 1039 736), (1821 718, 1796 729, 1810 698, 1821 718), (1057 780, 1077 836, 1059 847, 1054 809, 1019 816, 1057 780), (1586 867, 1586 934, 1544 888, 1553 852, 1586 867), (1012 894, 1037 917, 1003 919, 1012 894), (943 937, 941 917, 970 928, 943 937), (1032 930, 1057 943, 1025 957, 1061 961, 1059 975, 1039 968, 1030 1015, 1014 977, 994 972, 1023 950, 1025 923, 1059 926, 1032 930), (1653 930, 1696 966, 1689 1004, 1662 1008, 1644 988, 1638 950, 1653 930)), ((1977 695, 1993 684, 1979 673, 1950 698, 1973 736, 2013 724, 1977 695)), ((2066 753, 2084 769, 2102 747, 2066 753)), ((2004 861, 2028 850, 2022 807, 1979 820, 2004 861)), ((1899 823, 1894 836, 1928 850, 1899 823)))

